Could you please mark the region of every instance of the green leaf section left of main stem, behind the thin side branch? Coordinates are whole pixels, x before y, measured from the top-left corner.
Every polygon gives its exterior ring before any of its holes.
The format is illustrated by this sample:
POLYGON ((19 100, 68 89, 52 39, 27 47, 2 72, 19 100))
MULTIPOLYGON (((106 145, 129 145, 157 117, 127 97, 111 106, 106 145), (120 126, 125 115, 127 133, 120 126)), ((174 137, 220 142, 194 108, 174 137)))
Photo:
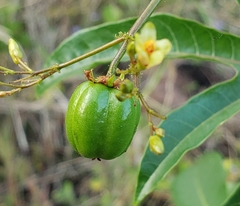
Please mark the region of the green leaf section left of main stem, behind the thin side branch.
MULTIPOLYGON (((114 40, 115 35, 119 31, 128 31, 133 22, 134 19, 125 20, 118 23, 103 24, 76 32, 57 47, 57 49, 47 59, 44 68, 50 67, 56 63, 69 61, 75 57, 81 56, 100 46, 103 46, 104 44, 114 40)), ((119 46, 120 45, 111 47, 101 53, 84 59, 81 62, 62 69, 60 73, 55 73, 54 75, 48 77, 37 86, 37 95, 41 96, 47 89, 64 79, 72 76, 81 76, 83 75, 84 70, 110 62, 117 53, 119 46)))

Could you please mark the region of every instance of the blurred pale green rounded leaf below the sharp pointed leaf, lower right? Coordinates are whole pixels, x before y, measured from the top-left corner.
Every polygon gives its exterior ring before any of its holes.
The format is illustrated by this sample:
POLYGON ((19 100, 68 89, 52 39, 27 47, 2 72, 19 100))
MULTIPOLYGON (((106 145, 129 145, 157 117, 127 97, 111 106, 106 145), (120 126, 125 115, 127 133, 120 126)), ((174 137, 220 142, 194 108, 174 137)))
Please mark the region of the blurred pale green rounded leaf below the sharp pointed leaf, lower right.
POLYGON ((173 180, 173 202, 177 206, 220 205, 228 195, 225 178, 221 156, 204 154, 173 180))

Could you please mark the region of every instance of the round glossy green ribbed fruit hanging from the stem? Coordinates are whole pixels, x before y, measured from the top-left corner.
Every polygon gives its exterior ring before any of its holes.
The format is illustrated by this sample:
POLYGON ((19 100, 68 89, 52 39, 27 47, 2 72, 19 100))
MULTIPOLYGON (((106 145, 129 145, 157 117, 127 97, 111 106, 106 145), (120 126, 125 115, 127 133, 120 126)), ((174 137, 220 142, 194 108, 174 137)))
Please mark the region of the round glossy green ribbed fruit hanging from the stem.
POLYGON ((135 97, 120 102, 117 92, 91 81, 74 91, 66 113, 66 132, 80 155, 113 159, 129 147, 139 122, 140 103, 135 97))

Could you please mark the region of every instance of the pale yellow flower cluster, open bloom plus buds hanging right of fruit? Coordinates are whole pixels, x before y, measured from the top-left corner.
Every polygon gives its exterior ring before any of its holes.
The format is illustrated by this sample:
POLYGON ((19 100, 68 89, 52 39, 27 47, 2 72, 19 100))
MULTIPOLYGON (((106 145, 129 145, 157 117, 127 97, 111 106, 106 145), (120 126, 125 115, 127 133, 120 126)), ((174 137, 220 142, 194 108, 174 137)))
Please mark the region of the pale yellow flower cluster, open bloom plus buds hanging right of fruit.
MULTIPOLYGON (((140 33, 136 33, 134 37, 134 40, 130 41, 127 47, 127 53, 131 61, 129 71, 132 74, 138 74, 142 70, 159 65, 172 48, 172 44, 168 39, 157 40, 157 31, 152 22, 147 22, 140 33)), ((140 95, 139 97, 149 116, 154 115, 160 119, 165 119, 165 117, 149 109, 143 98, 140 95)), ((164 152, 164 144, 162 142, 164 130, 154 126, 150 117, 149 125, 152 131, 149 138, 150 151, 160 155, 164 152)))

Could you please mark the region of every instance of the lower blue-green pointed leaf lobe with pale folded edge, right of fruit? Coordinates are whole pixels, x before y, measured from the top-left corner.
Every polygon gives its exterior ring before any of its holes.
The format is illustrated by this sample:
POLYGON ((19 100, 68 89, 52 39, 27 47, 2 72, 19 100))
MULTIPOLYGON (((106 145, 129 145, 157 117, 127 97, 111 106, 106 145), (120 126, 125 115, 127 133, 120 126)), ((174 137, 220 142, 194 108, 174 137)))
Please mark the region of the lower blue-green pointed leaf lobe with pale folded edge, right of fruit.
POLYGON ((214 86, 168 116, 161 125, 166 131, 165 153, 156 156, 146 150, 138 177, 137 202, 154 189, 183 154, 199 146, 219 124, 239 112, 239 88, 239 78, 214 86))

